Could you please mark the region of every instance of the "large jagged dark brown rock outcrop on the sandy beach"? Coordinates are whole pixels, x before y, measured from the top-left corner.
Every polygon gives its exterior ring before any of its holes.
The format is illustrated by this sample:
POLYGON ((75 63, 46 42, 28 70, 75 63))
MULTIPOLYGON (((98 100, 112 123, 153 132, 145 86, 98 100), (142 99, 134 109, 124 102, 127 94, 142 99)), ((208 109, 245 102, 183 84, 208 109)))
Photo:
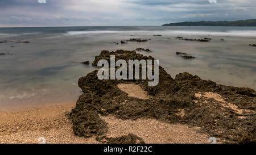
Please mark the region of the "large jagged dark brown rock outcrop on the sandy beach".
MULTIPOLYGON (((115 55, 115 61, 154 60, 151 56, 143 56, 135 51, 102 51, 93 64, 97 65, 101 59, 110 62, 110 55, 115 55)), ((203 80, 186 72, 172 78, 162 66, 159 66, 157 86, 148 86, 148 79, 99 80, 97 71, 81 77, 78 82, 83 94, 69 115, 73 132, 78 136, 96 136, 97 140, 106 137, 108 124, 99 115, 113 115, 123 120, 148 118, 200 127, 200 132, 214 136, 222 143, 256 142, 256 96, 253 89, 217 85, 213 81, 203 80), (139 85, 151 97, 129 97, 118 88, 119 83, 139 85), (222 98, 213 98, 209 94, 218 94, 222 98), (124 102, 126 104, 122 104, 124 102), (180 115, 180 110, 183 115, 180 115)), ((128 143, 127 140, 134 143, 139 137, 130 135, 107 139, 106 143, 128 143)))

